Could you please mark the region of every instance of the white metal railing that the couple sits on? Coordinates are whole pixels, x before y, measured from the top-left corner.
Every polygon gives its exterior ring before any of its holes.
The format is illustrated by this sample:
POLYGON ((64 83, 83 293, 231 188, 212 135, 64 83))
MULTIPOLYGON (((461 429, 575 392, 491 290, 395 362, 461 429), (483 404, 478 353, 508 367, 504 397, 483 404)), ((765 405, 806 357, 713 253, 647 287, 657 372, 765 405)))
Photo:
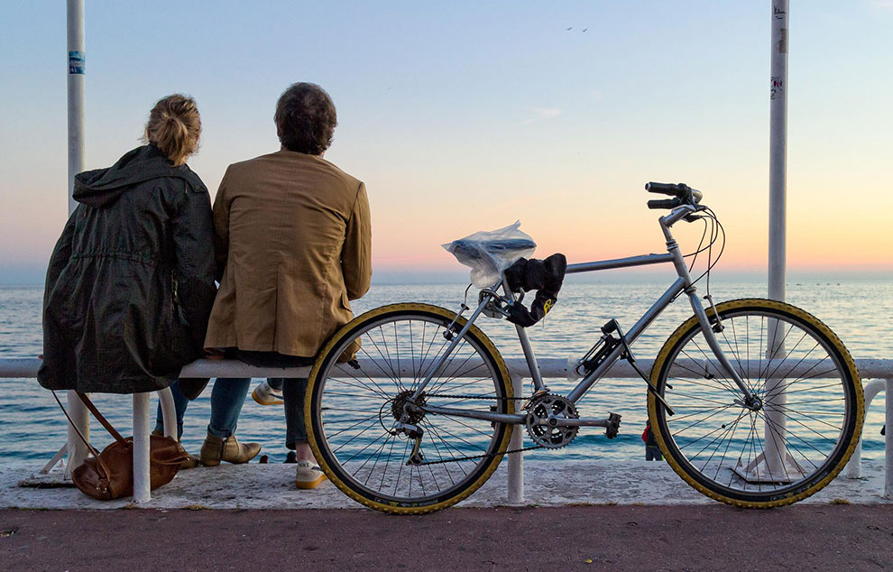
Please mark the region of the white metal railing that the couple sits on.
MULTIPOLYGON (((361 365, 362 365, 361 360, 361 365)), ((523 380, 529 377, 529 370, 524 359, 506 359, 511 374, 512 385, 517 395, 523 393, 523 380)), ((2 378, 35 378, 41 361, 36 358, 0 358, 0 379, 2 378)), ((645 372, 650 371, 652 360, 640 360, 638 365, 645 372)), ((887 390, 887 395, 893 395, 893 360, 890 359, 861 359, 856 360, 859 373, 863 380, 873 380, 864 385, 865 411, 867 412, 872 399, 879 392, 887 390)), ((369 368, 370 370, 372 368, 369 368)), ((182 377, 307 377, 309 367, 254 367, 231 360, 207 360, 201 359, 183 368, 182 377)), ((539 370, 544 378, 575 379, 576 374, 569 359, 545 358, 539 360, 539 370)), ((383 376, 383 374, 382 374, 383 376)), ((639 374, 626 362, 614 364, 605 377, 608 378, 636 378, 639 374)), ((176 420, 174 418, 173 400, 170 390, 159 393, 162 415, 164 417, 164 433, 168 436, 176 435, 176 420)), ((885 476, 884 498, 893 499, 893 399, 886 400, 887 435, 885 438, 885 476)), ((149 492, 149 393, 136 393, 133 395, 133 502, 147 503, 151 500, 149 492)), ((523 431, 516 430, 511 434, 510 448, 520 448, 523 431)), ((44 467, 55 465, 64 454, 64 447, 60 453, 53 457, 51 462, 44 467)), ((508 490, 507 501, 510 504, 523 503, 524 501, 524 459, 521 453, 508 456, 508 490)), ((847 466, 846 475, 851 478, 859 478, 861 474, 861 440, 852 460, 847 466)))

